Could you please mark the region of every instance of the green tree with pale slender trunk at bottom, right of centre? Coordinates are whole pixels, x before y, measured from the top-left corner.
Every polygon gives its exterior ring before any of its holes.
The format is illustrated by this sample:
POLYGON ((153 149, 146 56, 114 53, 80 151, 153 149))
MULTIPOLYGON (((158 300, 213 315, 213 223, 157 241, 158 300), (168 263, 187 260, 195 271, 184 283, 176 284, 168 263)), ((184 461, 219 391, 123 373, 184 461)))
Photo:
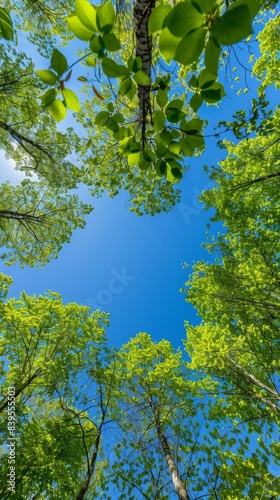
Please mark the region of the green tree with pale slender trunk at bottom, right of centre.
POLYGON ((115 366, 117 444, 105 471, 114 489, 104 498, 245 499, 277 491, 268 447, 258 446, 247 423, 221 412, 217 382, 189 371, 168 341, 140 333, 116 354, 115 366))

